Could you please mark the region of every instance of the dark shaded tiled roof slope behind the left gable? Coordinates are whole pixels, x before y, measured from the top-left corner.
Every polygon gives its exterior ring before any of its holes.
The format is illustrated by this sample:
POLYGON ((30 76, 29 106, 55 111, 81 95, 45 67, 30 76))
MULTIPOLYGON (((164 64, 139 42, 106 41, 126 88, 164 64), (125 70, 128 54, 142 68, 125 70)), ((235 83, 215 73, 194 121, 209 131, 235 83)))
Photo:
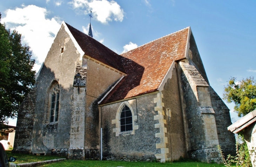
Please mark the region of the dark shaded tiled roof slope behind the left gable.
POLYGON ((66 25, 86 55, 126 73, 119 54, 116 54, 114 51, 110 50, 100 42, 96 41, 85 33, 82 33, 78 29, 75 29, 69 24, 66 23, 66 25))

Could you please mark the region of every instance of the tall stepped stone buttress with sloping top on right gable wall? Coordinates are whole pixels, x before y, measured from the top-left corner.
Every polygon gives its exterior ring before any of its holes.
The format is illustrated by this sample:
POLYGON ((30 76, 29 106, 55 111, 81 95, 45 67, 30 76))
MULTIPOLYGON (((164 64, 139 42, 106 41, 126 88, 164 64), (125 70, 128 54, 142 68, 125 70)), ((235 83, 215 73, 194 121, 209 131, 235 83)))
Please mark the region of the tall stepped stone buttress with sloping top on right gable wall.
MULTIPOLYGON (((181 94, 183 94, 183 110, 185 122, 187 122, 188 156, 201 161, 221 162, 220 155, 216 149, 218 143, 214 110, 211 106, 208 86, 201 85, 201 81, 191 77, 190 70, 184 66, 187 63, 180 62, 179 75, 181 82, 181 94), (183 93, 186 92, 186 93, 183 93), (207 155, 207 156, 206 156, 207 155)), ((197 75, 200 75, 196 72, 197 75)))

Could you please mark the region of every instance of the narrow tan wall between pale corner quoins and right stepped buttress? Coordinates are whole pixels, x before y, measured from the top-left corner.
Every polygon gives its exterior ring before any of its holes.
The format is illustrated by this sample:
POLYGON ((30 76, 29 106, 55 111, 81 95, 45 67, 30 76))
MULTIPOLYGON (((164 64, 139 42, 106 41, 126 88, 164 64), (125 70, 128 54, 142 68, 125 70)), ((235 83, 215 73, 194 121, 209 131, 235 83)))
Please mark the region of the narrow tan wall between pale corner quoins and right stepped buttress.
POLYGON ((173 70, 172 77, 164 85, 162 93, 163 111, 165 112, 164 119, 167 120, 166 137, 168 138, 168 143, 166 146, 169 148, 168 158, 171 161, 178 160, 181 156, 183 158, 187 157, 187 147, 176 68, 173 70), (170 110, 170 116, 167 116, 168 110, 170 110))

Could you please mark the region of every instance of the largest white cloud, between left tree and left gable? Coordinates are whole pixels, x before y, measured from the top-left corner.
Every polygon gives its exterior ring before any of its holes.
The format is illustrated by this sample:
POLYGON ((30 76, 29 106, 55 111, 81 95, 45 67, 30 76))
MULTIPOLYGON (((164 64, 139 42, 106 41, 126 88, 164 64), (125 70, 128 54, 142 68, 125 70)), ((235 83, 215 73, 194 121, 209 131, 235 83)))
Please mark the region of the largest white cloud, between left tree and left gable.
POLYGON ((31 47, 32 58, 36 60, 34 70, 39 70, 60 28, 59 18, 46 18, 47 10, 35 5, 8 9, 1 22, 22 35, 22 44, 31 47))

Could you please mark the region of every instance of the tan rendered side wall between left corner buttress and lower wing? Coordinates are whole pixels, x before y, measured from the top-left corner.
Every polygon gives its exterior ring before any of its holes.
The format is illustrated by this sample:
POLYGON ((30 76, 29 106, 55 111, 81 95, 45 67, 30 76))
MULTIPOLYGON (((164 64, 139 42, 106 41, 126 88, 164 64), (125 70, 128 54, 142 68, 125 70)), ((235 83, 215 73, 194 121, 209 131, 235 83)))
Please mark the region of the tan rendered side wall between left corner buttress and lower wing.
POLYGON ((119 81, 122 75, 91 59, 83 61, 87 61, 85 159, 99 159, 100 118, 98 102, 119 81))

